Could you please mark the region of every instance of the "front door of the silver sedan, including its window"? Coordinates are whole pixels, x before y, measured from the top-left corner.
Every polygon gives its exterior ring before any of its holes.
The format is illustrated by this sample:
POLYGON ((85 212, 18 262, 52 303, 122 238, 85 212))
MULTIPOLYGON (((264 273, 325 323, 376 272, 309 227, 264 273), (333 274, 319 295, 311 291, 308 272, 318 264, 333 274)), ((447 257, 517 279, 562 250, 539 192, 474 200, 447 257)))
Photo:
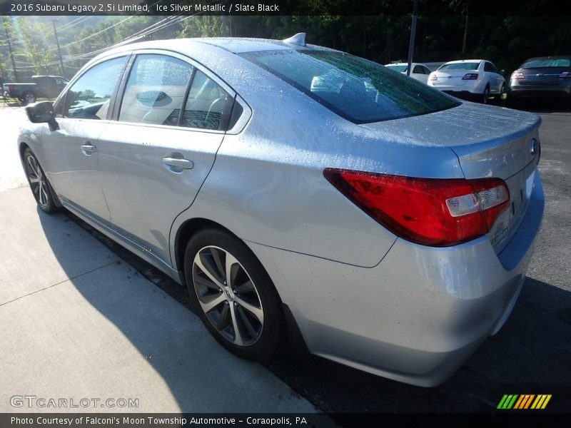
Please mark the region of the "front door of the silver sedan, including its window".
POLYGON ((109 220, 98 173, 96 141, 108 125, 111 96, 126 65, 126 56, 96 63, 56 101, 59 129, 42 137, 44 170, 66 205, 109 220))

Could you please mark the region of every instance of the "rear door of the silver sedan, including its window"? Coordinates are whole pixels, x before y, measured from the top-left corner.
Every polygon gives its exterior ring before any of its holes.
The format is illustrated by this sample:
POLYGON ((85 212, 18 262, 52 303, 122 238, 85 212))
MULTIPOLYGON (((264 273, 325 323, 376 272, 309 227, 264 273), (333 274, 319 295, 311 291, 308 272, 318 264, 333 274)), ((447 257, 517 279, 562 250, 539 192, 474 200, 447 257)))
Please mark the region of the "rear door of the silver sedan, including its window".
POLYGON ((117 121, 98 141, 112 227, 170 265, 171 225, 211 170, 235 94, 161 51, 138 53, 122 86, 117 121))

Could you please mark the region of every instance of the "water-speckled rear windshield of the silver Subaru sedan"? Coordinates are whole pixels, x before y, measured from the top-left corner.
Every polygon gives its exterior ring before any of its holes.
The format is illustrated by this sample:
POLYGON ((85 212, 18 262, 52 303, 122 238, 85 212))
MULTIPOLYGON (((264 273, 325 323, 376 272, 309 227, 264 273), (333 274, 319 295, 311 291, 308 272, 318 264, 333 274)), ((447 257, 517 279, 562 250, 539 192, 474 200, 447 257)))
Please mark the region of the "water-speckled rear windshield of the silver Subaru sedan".
POLYGON ((335 51, 263 51, 243 57, 353 123, 419 116, 460 105, 385 66, 335 51))

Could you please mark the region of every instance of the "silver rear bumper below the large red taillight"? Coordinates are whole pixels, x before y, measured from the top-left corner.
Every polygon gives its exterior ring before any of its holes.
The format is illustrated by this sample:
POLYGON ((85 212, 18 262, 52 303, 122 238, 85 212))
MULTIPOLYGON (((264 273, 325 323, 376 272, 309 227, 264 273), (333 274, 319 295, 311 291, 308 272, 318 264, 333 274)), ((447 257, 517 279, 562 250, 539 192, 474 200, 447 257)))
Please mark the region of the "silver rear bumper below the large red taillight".
POLYGON ((500 255, 487 238, 452 248, 398 239, 377 266, 363 268, 248 245, 290 307, 310 352, 432 387, 507 320, 542 212, 536 170, 525 218, 500 255))

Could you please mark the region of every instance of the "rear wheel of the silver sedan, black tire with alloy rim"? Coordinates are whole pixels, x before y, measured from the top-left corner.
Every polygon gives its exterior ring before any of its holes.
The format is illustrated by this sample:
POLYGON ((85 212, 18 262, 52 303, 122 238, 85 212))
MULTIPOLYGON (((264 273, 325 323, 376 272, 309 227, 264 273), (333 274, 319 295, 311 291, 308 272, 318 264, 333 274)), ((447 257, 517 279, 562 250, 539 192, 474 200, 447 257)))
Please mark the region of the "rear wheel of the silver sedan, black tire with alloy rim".
POLYGON ((223 347, 258 361, 280 349, 281 300, 246 244, 224 230, 200 230, 186 245, 184 271, 194 310, 223 347))

